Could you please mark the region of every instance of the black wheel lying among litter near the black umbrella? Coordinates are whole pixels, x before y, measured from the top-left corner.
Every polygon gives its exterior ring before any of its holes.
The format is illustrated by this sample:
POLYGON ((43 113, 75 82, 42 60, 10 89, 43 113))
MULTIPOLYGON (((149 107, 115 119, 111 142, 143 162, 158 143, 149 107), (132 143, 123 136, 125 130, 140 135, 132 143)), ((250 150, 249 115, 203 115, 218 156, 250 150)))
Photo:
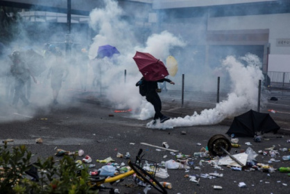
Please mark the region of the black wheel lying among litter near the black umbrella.
POLYGON ((227 155, 222 149, 223 147, 225 150, 230 152, 230 149, 232 148, 232 145, 230 143, 230 140, 228 140, 225 136, 222 134, 216 134, 210 138, 210 140, 207 142, 207 148, 210 152, 210 155, 212 156, 225 156, 227 155))

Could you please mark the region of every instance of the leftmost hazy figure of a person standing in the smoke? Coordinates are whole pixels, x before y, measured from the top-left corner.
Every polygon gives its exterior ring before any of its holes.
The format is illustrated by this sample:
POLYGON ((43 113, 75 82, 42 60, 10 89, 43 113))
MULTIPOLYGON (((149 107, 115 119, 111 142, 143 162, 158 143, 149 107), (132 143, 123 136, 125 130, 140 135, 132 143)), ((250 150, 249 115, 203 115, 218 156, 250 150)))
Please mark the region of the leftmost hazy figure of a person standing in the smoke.
POLYGON ((25 96, 24 86, 30 79, 30 76, 33 78, 35 83, 37 81, 24 60, 22 60, 22 56, 19 51, 14 51, 12 55, 10 55, 10 59, 12 60, 10 72, 15 79, 15 94, 13 96, 12 105, 16 107, 20 98, 24 105, 27 106, 29 105, 29 101, 25 96))

